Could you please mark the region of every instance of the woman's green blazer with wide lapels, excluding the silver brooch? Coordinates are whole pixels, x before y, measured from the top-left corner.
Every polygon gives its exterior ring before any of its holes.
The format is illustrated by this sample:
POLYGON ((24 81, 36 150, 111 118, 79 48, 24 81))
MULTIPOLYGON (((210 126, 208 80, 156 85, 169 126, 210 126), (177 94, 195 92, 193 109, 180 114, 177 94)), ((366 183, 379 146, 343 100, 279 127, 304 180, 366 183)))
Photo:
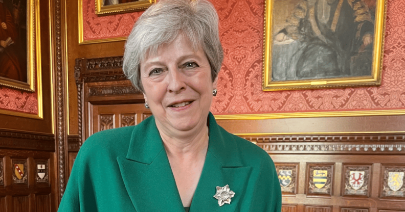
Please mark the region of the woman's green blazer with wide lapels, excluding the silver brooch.
MULTIPOLYGON (((190 212, 281 211, 281 189, 268 154, 220 127, 210 113, 206 161, 190 212), (231 204, 216 187, 229 185, 231 204)), ((184 211, 154 117, 101 131, 83 143, 59 211, 184 211)))

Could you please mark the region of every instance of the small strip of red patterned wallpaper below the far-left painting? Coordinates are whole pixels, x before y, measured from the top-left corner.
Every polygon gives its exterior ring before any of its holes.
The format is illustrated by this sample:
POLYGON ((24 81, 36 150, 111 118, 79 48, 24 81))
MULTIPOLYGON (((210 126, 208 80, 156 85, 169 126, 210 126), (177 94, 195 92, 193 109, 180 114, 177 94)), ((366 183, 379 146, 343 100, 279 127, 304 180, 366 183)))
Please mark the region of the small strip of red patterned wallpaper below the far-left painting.
POLYGON ((26 92, 0 86, 0 109, 38 114, 37 92, 26 92))

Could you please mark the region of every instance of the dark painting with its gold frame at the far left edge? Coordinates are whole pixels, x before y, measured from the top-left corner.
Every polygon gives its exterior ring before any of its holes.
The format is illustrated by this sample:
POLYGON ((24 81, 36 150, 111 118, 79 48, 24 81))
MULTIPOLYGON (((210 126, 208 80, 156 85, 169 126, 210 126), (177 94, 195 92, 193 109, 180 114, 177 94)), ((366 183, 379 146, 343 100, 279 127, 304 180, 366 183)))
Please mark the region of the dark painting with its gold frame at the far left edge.
POLYGON ((41 65, 37 0, 0 0, 0 24, 0 85, 34 92, 41 65))

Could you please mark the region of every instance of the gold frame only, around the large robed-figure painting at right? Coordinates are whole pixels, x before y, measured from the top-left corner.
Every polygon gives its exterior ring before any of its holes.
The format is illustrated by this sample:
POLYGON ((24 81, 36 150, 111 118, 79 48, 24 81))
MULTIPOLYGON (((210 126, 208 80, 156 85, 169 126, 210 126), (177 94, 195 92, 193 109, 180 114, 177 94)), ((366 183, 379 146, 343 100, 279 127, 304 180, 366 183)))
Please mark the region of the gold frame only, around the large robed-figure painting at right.
POLYGON ((340 78, 324 78, 316 80, 277 81, 272 82, 272 10, 275 0, 265 1, 264 15, 264 45, 263 45, 263 91, 282 91, 300 89, 322 89, 359 86, 378 86, 381 84, 383 69, 384 35, 386 28, 387 0, 376 0, 374 51, 371 76, 355 76, 340 78))

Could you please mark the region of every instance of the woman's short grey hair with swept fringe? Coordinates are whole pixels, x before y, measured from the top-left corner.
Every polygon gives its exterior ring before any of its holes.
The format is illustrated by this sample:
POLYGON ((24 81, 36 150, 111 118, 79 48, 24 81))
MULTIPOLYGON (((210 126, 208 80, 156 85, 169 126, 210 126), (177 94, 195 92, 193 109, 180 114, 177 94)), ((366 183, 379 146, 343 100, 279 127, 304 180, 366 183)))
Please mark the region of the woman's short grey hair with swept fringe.
POLYGON ((207 0, 161 0, 150 6, 134 24, 125 44, 123 71, 133 86, 143 92, 140 63, 165 43, 183 34, 193 49, 202 47, 211 66, 212 81, 223 60, 218 14, 207 0))

